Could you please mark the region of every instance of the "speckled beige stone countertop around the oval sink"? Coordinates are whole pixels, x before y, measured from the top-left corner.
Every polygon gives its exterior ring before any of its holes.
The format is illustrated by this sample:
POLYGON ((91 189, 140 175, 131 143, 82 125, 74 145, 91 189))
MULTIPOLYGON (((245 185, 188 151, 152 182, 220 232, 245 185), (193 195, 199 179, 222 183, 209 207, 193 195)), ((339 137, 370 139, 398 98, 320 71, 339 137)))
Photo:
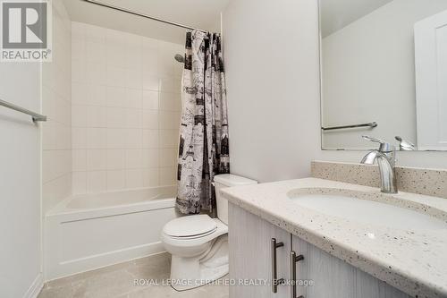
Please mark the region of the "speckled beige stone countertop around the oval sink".
POLYGON ((412 209, 447 222, 447 200, 306 178, 223 189, 223 197, 414 297, 447 297, 447 229, 366 225, 299 206, 293 192, 338 193, 412 209), (292 191, 292 192, 291 192, 292 191), (371 237, 371 235, 374 237, 371 237))

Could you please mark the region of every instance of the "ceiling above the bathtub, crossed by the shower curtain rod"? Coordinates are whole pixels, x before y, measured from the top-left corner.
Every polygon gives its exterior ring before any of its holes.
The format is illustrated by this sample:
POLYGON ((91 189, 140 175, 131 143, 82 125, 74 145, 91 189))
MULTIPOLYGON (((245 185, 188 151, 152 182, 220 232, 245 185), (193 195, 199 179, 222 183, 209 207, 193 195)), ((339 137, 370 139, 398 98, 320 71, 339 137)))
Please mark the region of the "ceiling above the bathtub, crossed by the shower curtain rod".
MULTIPOLYGON (((98 0, 213 32, 220 32, 220 13, 229 0, 98 0)), ((82 0, 63 0, 72 21, 86 22, 149 38, 184 43, 185 30, 159 21, 114 11, 82 0)))

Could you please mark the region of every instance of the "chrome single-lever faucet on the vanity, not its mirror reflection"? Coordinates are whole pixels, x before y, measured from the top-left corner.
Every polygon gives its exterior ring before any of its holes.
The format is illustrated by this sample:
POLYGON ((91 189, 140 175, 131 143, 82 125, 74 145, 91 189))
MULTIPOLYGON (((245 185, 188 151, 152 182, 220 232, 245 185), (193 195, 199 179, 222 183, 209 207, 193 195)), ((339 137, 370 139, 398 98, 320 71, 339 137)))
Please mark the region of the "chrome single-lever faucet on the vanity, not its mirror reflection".
POLYGON ((374 141, 380 144, 378 150, 372 150, 362 160, 364 165, 374 165, 375 161, 379 166, 381 191, 384 193, 397 193, 396 179, 396 148, 384 140, 363 136, 363 139, 374 141))

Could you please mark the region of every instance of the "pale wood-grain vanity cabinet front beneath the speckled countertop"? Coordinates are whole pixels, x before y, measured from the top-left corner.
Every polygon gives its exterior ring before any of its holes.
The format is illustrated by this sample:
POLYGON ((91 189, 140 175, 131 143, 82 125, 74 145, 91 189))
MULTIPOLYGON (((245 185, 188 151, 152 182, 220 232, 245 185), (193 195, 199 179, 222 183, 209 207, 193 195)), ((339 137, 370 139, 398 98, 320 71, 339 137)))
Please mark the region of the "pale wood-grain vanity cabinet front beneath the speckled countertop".
POLYGON ((379 279, 354 268, 333 257, 297 236, 268 223, 240 207, 230 204, 229 208, 230 298, 409 298, 398 289, 379 279), (269 285, 273 274, 272 238, 283 242, 276 249, 276 271, 278 278, 284 278, 285 285, 279 285, 273 293, 269 285), (296 266, 296 278, 313 285, 296 286, 292 297, 290 285, 292 275, 292 253, 303 256, 296 266), (266 280, 267 285, 247 286, 241 280, 266 280))

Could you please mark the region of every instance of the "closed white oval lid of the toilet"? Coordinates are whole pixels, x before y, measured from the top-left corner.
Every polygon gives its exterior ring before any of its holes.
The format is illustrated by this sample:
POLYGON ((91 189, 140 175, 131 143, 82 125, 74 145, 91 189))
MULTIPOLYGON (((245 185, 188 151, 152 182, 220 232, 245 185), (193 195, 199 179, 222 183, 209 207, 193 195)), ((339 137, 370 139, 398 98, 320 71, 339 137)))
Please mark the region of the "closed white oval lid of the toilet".
POLYGON ((190 237, 207 234, 216 228, 217 224, 211 217, 196 215, 173 219, 164 226, 163 232, 173 237, 190 237))

